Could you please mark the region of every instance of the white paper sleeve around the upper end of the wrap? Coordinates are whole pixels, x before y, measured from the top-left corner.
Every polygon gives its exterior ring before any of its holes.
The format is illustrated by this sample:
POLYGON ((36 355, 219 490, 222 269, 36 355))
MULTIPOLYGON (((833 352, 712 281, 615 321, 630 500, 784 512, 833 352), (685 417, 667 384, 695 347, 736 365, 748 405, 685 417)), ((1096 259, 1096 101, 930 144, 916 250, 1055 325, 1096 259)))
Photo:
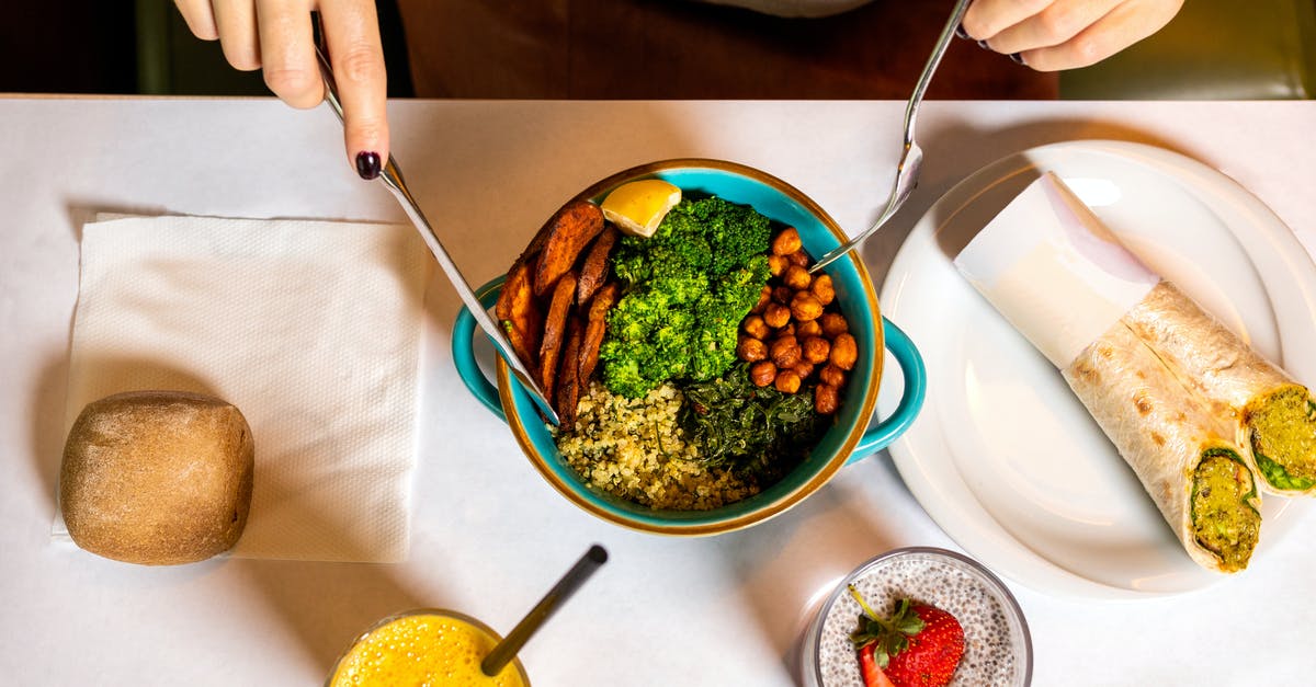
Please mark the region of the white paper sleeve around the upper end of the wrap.
POLYGON ((1011 200, 955 267, 1059 370, 1161 280, 1051 172, 1011 200))

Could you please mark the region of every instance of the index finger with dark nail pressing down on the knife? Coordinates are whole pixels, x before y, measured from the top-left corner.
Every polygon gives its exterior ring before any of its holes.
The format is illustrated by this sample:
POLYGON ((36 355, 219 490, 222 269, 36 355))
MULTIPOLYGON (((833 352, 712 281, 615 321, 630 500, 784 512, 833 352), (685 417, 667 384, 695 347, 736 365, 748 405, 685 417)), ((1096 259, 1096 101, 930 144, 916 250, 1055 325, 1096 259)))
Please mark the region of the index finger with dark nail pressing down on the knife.
POLYGON ((388 78, 379 20, 370 0, 322 0, 321 22, 342 101, 347 157, 366 179, 388 161, 388 78))

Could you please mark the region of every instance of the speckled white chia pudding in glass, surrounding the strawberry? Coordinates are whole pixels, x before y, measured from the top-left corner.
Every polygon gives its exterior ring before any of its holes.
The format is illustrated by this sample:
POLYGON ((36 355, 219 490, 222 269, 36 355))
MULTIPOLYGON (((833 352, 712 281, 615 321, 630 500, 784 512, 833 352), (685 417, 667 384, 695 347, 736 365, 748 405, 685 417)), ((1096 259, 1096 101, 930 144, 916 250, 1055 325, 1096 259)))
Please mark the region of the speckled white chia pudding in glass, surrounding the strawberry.
POLYGON ((934 547, 887 551, 845 576, 805 630, 803 678, 808 687, 863 687, 850 633, 859 626, 854 584, 869 605, 890 616, 909 599, 955 616, 965 629, 965 655, 951 686, 1028 686, 1033 644, 1015 596, 976 561, 934 547))

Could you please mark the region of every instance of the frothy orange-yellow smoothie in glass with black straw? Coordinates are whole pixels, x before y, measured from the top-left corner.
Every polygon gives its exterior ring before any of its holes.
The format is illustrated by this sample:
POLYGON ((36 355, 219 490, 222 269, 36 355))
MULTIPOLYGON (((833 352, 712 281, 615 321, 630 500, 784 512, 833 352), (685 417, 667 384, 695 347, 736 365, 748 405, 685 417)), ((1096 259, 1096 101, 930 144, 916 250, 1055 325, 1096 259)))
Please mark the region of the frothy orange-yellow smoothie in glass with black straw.
POLYGON ((455 611, 407 611, 375 623, 357 637, 338 658, 325 687, 529 687, 520 659, 512 659, 492 678, 480 671, 480 661, 500 640, 488 625, 455 611))

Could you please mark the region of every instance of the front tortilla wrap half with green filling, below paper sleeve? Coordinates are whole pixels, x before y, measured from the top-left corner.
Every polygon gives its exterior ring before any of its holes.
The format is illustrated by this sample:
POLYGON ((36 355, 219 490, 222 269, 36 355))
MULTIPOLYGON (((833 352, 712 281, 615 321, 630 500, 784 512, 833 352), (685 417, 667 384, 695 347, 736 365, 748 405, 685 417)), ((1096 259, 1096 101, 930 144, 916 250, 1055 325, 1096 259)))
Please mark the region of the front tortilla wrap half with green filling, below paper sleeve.
POLYGON ((1228 438, 1228 422, 1121 322, 1062 375, 1188 555, 1207 570, 1248 567, 1261 532, 1261 499, 1241 450, 1228 438))

